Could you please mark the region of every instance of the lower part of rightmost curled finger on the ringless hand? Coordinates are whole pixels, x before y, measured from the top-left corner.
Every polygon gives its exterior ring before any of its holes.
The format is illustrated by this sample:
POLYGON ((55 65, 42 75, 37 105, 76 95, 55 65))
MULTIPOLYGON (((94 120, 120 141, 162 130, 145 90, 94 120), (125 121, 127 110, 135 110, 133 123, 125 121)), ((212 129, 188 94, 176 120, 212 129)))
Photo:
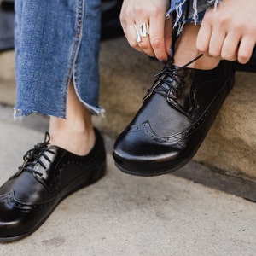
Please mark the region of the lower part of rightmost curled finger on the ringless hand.
POLYGON ((242 38, 237 53, 237 61, 241 64, 245 64, 250 60, 255 47, 255 38, 242 38))

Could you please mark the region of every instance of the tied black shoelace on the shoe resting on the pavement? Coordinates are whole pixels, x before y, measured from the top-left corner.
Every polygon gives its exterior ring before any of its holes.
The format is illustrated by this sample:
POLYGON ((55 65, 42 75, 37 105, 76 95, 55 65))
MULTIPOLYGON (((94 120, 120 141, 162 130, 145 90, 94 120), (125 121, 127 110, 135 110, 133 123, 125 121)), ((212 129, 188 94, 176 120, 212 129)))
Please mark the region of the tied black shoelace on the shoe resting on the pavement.
POLYGON ((40 157, 44 156, 44 159, 50 162, 49 157, 45 153, 49 152, 51 154, 55 154, 54 151, 48 148, 49 138, 49 132, 45 132, 44 143, 38 143, 37 145, 34 145, 34 148, 28 150, 26 154, 24 154, 24 163, 19 167, 19 171, 15 174, 15 176, 18 176, 20 172, 25 170, 29 172, 35 172, 40 176, 43 175, 43 173, 34 170, 33 167, 38 163, 40 166, 46 169, 46 166, 44 165, 43 161, 40 160, 40 157))

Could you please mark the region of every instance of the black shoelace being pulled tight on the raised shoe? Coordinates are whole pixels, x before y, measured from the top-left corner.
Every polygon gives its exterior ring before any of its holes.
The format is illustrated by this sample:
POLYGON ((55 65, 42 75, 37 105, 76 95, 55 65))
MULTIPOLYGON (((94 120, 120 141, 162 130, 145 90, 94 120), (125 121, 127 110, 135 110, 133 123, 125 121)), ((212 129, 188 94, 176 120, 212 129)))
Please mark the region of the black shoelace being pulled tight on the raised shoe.
POLYGON ((191 63, 201 58, 201 55, 198 55, 192 61, 189 61, 182 67, 173 66, 173 59, 169 59, 166 62, 166 66, 160 73, 155 75, 156 79, 154 80, 153 86, 148 89, 148 93, 143 98, 145 102, 153 92, 165 96, 167 99, 176 99, 180 93, 180 85, 184 77, 182 73, 179 73, 185 67, 188 67, 191 63))

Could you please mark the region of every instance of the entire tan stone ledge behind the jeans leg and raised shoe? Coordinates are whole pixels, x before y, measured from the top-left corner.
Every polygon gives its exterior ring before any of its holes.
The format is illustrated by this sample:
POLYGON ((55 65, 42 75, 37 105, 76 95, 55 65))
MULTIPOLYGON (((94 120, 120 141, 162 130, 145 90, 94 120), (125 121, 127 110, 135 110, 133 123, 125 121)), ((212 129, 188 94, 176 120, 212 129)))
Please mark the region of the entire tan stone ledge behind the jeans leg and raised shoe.
MULTIPOLYGON (((116 137, 142 104, 162 65, 131 49, 125 38, 102 42, 100 104, 103 132, 116 137)), ((232 177, 256 182, 256 73, 236 73, 236 84, 201 145, 195 161, 232 177)), ((0 54, 0 102, 15 104, 14 52, 0 54)))

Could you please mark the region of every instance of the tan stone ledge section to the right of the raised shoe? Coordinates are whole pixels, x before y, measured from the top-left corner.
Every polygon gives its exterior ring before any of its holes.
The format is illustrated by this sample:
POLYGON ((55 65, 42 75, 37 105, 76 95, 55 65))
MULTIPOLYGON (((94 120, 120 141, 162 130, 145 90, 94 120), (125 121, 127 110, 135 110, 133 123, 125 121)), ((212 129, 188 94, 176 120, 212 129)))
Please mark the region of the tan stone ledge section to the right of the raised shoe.
POLYGON ((224 102, 195 160, 236 177, 256 181, 256 73, 236 73, 224 102))

